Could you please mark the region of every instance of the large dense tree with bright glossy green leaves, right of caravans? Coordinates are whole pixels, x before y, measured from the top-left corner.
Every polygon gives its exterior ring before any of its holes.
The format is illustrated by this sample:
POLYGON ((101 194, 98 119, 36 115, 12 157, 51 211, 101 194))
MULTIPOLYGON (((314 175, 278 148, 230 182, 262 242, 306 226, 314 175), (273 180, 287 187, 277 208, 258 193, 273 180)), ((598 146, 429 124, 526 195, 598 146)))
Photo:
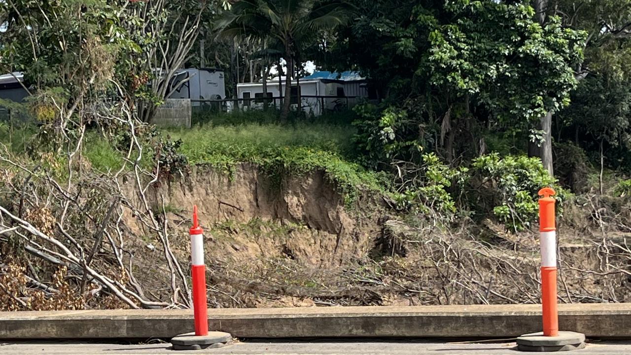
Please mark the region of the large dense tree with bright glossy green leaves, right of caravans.
POLYGON ((420 162, 421 150, 471 159, 488 129, 528 129, 569 103, 583 34, 558 18, 541 26, 528 3, 358 3, 329 58, 384 88, 360 124, 382 162, 420 162))

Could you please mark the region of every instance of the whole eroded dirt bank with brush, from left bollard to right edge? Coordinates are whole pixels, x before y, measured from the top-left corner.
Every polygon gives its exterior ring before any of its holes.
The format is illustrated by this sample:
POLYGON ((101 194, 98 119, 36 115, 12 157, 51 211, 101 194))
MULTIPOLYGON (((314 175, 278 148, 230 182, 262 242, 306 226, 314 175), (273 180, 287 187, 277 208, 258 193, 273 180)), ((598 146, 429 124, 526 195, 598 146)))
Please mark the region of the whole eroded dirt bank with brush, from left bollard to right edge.
MULTIPOLYGON (((209 303, 216 307, 539 299, 536 231, 512 235, 500 226, 446 228, 431 221, 411 227, 380 196, 364 193, 355 207, 346 207, 322 171, 274 181, 251 164, 238 165, 231 175, 197 166, 185 179, 154 185, 147 194, 155 214, 167 217, 170 248, 184 269, 192 206, 198 205, 209 303)), ((163 249, 145 226, 125 217, 141 237, 140 281, 146 289, 168 284, 167 267, 151 256, 163 249), (155 249, 144 245, 151 243, 155 249)), ((628 276, 616 271, 628 267, 625 251, 570 234, 560 230, 563 301, 631 299, 628 276)))

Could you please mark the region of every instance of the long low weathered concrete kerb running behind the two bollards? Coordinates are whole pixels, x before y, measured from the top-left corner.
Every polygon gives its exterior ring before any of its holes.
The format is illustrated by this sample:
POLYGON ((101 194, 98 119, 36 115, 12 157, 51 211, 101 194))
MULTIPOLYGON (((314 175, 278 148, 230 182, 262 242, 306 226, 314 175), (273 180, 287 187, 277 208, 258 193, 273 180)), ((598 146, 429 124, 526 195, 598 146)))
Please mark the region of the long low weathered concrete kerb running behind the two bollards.
MULTIPOLYGON (((209 328, 237 338, 517 337, 541 330, 540 304, 208 310, 209 328)), ((171 339, 192 310, 0 312, 0 339, 171 339)), ((631 339, 631 303, 560 304, 559 324, 587 337, 631 339)))

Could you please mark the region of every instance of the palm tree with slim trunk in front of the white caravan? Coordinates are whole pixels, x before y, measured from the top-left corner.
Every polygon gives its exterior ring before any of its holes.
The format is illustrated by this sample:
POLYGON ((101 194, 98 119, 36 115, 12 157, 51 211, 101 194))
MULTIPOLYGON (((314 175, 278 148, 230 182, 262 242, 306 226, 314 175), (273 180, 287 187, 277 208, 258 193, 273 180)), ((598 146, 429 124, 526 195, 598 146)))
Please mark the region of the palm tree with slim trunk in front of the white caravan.
POLYGON ((240 0, 218 22, 223 36, 251 35, 278 40, 287 75, 281 121, 287 119, 292 93, 293 62, 317 35, 346 22, 350 5, 343 0, 240 0))

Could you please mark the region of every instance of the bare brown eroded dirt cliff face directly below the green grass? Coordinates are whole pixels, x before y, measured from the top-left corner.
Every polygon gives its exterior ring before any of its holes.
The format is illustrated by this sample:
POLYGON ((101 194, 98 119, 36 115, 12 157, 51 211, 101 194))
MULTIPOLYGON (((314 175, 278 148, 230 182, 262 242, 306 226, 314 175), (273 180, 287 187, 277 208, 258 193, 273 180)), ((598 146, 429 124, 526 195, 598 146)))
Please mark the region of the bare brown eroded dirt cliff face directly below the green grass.
POLYGON ((343 265, 364 258, 381 230, 378 198, 365 194, 357 202, 361 208, 345 208, 321 171, 274 184, 252 164, 238 165, 232 178, 196 166, 186 179, 151 188, 150 200, 156 210, 165 206, 168 222, 185 240, 197 205, 206 254, 217 260, 280 257, 317 267, 343 265))

